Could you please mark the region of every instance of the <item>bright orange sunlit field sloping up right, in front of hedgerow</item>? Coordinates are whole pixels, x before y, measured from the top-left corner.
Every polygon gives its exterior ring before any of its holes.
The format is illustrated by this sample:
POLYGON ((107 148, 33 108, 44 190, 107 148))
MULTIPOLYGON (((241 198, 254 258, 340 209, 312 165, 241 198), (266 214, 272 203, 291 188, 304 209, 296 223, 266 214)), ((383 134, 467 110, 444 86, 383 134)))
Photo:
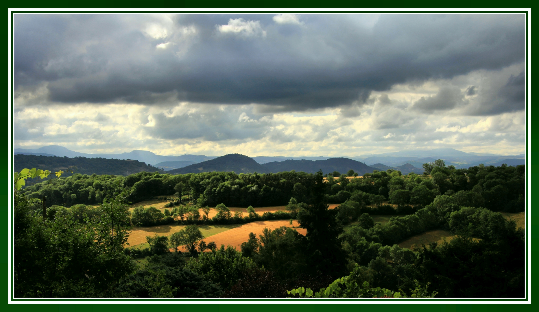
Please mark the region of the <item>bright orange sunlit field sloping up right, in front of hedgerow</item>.
MULTIPOLYGON (((289 220, 255 221, 238 226, 236 228, 232 228, 232 230, 220 232, 210 237, 206 237, 204 241, 206 242, 206 244, 210 241, 215 241, 217 247, 221 245, 230 245, 238 248, 239 250, 241 243, 247 241, 247 239, 249 238, 250 232, 255 233, 258 237, 258 234, 262 234, 262 231, 266 227, 271 230, 275 230, 275 228, 281 226, 290 227, 289 220)), ((299 226, 297 220, 294 220, 293 226, 299 226)), ((305 230, 305 228, 294 228, 294 230, 298 231, 298 233, 303 235, 307 234, 307 230, 305 230)), ((184 250, 183 247, 180 248, 182 248, 182 251, 184 250)), ((174 251, 174 249, 171 249, 171 251, 174 251)))

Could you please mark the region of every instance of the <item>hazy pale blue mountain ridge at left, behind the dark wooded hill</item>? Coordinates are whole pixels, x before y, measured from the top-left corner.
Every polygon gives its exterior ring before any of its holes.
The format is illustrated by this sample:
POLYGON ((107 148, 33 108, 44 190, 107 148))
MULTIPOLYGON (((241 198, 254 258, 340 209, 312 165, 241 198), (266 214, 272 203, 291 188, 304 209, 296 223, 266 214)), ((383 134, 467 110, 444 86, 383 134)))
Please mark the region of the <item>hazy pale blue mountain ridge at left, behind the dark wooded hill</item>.
POLYGON ((108 158, 119 160, 137 160, 147 164, 157 164, 165 161, 190 161, 194 163, 203 162, 216 158, 217 156, 205 156, 205 155, 181 155, 181 156, 162 156, 155 155, 151 151, 147 150, 133 150, 130 152, 123 152, 121 154, 87 154, 78 151, 69 150, 59 145, 49 145, 36 149, 23 149, 16 148, 15 153, 24 153, 26 155, 40 155, 46 153, 46 156, 59 156, 59 157, 86 157, 86 158, 108 158))

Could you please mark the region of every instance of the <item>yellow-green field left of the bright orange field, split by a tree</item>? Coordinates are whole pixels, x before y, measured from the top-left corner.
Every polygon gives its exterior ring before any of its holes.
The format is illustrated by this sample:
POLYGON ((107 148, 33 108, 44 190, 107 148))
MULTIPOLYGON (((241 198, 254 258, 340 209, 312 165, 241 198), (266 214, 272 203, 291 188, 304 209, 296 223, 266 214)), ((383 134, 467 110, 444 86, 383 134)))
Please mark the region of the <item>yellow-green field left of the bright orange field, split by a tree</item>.
MULTIPOLYGON (((200 225, 202 234, 204 237, 210 237, 217 233, 228 231, 231 228, 241 226, 241 224, 225 224, 225 225, 200 225)), ((129 247, 133 248, 136 246, 137 249, 144 249, 148 247, 146 242, 147 236, 154 236, 158 234, 160 236, 167 236, 178 232, 184 228, 184 225, 157 225, 149 227, 134 227, 129 235, 129 247)))

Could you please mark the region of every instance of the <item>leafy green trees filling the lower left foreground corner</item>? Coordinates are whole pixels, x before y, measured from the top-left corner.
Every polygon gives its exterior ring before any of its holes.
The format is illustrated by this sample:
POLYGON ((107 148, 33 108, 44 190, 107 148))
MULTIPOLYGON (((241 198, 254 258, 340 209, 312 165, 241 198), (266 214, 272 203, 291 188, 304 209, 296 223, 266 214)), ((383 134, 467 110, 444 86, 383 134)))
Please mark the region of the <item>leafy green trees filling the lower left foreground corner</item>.
POLYGON ((123 252, 129 227, 125 193, 106 203, 99 218, 84 223, 58 215, 43 220, 15 193, 15 296, 110 296, 133 271, 123 252))

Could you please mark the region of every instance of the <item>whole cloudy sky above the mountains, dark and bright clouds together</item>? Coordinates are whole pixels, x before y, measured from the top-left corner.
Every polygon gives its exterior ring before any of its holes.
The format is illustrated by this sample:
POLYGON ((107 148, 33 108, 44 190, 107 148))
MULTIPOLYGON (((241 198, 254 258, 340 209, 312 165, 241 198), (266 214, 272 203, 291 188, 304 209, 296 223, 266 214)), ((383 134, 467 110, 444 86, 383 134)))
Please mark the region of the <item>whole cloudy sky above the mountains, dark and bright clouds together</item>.
POLYGON ((16 15, 15 148, 525 152, 524 15, 16 15))

